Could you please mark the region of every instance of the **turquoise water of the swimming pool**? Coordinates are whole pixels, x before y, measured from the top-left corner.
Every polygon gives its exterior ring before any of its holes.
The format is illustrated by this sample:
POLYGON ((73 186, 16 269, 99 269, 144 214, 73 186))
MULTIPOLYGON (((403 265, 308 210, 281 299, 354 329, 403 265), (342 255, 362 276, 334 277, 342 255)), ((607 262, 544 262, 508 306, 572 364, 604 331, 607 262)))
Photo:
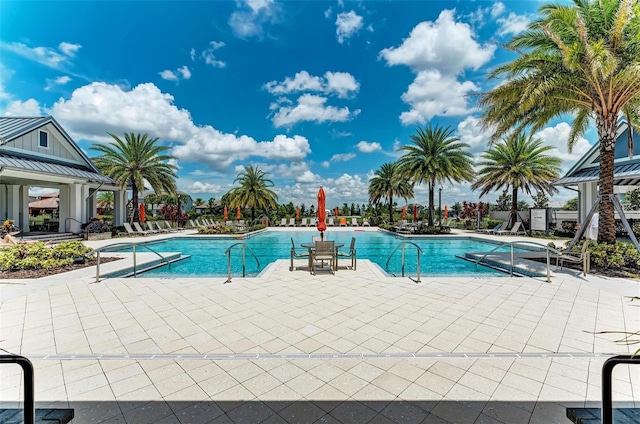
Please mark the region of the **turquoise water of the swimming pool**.
MULTIPOLYGON (((174 237, 167 240, 149 243, 149 247, 157 252, 181 252, 191 257, 171 264, 151 269, 138 277, 162 277, 162 278, 182 278, 182 277, 221 277, 226 276, 227 256, 224 252, 233 244, 245 243, 260 261, 257 266, 255 259, 250 252, 246 254, 246 272, 249 276, 259 274, 264 268, 276 259, 289 260, 291 251, 291 238, 296 247, 300 248, 301 243, 311 242, 311 237, 317 235, 316 232, 302 231, 266 231, 249 238, 213 238, 207 236, 194 237, 174 237)), ((356 238, 356 250, 358 259, 369 259, 378 264, 382 269, 386 269, 389 255, 403 240, 393 235, 380 231, 343 231, 327 233, 328 240, 335 240, 336 243, 344 243, 341 251, 347 252, 351 237, 356 238)), ((446 238, 412 238, 423 250, 421 256, 420 273, 427 276, 504 276, 505 274, 479 266, 456 258, 456 255, 464 255, 469 251, 489 251, 496 247, 495 244, 466 237, 446 237, 446 238)), ((505 247, 505 250, 507 248, 505 247)), ((300 248, 300 250, 304 250, 300 248)), ((232 250, 231 269, 234 276, 242 274, 241 250, 232 250)), ((405 251, 405 275, 415 276, 416 274, 416 249, 407 246, 405 251)), ((342 263, 348 263, 348 259, 343 259, 342 263)), ((389 261, 388 271, 395 275, 401 272, 401 252, 396 251, 389 261)))

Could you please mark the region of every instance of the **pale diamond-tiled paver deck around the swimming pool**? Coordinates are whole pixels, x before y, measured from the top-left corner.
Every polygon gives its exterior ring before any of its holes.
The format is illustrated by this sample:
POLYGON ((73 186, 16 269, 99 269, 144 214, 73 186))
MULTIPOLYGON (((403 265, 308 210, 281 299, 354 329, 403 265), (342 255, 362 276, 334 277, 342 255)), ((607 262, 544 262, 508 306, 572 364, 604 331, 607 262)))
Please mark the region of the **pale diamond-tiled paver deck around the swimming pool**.
MULTIPOLYGON (((631 351, 596 332, 640 329, 638 280, 288 267, 227 284, 95 283, 90 268, 4 280, 0 348, 32 360, 37 407, 74 408, 73 423, 546 424, 598 407, 604 359, 631 351)), ((0 405, 15 406, 20 371, 0 376, 0 405)), ((640 407, 640 367, 616 367, 613 389, 640 407)))

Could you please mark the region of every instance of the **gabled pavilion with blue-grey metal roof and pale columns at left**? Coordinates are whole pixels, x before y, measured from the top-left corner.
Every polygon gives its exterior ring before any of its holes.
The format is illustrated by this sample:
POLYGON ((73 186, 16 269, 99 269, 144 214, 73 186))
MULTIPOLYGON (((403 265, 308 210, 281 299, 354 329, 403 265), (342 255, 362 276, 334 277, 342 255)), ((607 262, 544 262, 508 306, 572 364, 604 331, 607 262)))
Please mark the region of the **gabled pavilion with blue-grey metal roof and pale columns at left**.
POLYGON ((126 217, 126 191, 102 175, 51 116, 0 117, 0 219, 29 231, 29 188, 59 190, 59 232, 80 232, 96 215, 96 193, 113 191, 114 224, 126 217))

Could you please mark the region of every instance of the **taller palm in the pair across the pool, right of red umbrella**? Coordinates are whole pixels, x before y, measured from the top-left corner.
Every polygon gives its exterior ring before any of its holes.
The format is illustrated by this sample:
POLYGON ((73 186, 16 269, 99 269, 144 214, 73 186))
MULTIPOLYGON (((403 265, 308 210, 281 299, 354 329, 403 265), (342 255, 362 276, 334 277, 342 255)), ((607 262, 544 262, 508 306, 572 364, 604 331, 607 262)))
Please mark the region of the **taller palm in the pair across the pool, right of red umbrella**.
POLYGON ((472 156, 463 150, 469 145, 453 136, 450 127, 418 127, 416 134, 411 135, 411 141, 413 144, 399 147, 399 150, 407 152, 398 159, 400 173, 411 179, 413 184, 427 182, 429 225, 433 226, 436 184, 471 181, 474 175, 472 156))

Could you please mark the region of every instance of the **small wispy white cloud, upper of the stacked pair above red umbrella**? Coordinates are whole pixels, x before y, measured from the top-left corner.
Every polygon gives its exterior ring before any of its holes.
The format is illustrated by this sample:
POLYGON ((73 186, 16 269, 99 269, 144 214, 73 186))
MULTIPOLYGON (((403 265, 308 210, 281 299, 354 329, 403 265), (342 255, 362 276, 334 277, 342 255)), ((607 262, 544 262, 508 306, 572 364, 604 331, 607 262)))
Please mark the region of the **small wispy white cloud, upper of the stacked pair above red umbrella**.
POLYGON ((325 94, 337 94, 338 97, 348 97, 360 89, 360 84, 348 72, 327 71, 324 77, 318 77, 309 74, 307 71, 300 71, 293 78, 286 77, 282 82, 269 81, 264 87, 274 95, 315 91, 325 94))

